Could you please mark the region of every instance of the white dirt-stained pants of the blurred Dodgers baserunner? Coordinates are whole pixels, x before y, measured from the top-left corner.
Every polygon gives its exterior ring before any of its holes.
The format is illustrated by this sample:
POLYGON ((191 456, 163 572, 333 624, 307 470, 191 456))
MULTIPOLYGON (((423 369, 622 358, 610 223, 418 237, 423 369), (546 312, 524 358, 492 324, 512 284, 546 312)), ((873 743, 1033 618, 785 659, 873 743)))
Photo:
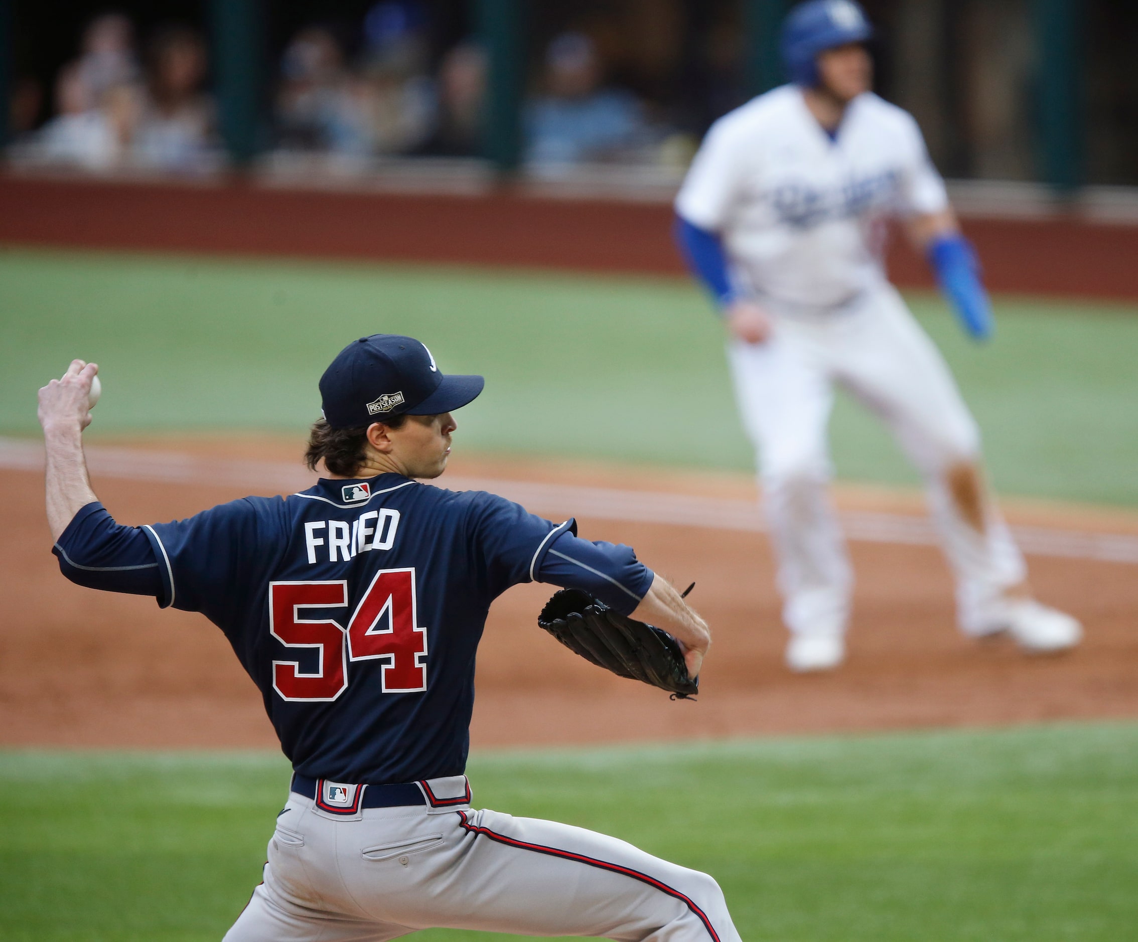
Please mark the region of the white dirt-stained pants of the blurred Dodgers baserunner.
POLYGON ((943 357, 897 291, 885 286, 852 311, 780 317, 772 341, 758 347, 733 345, 731 360, 744 421, 759 453, 787 627, 792 631, 833 630, 828 621, 815 628, 800 618, 803 606, 795 596, 809 601, 819 595, 801 572, 832 572, 831 592, 834 596, 844 593, 846 601, 843 609, 834 603, 831 611, 849 609, 848 563, 844 572, 833 563, 835 559, 844 562, 846 555, 828 504, 820 496, 800 496, 798 501, 806 506, 826 509, 826 519, 811 537, 783 532, 809 522, 807 514, 787 512, 787 490, 793 493, 808 482, 815 489, 824 486, 825 477, 807 473, 818 464, 818 455, 828 474, 825 427, 831 383, 840 382, 889 425, 923 474, 929 507, 956 579, 958 622, 967 633, 982 630, 988 606, 1022 581, 1026 569, 990 502, 984 504, 980 531, 953 498, 946 476, 955 465, 979 466, 979 430, 943 357), (797 484, 789 487, 790 481, 797 484), (817 546, 819 542, 824 548, 817 546), (813 555, 790 559, 787 553, 813 555))

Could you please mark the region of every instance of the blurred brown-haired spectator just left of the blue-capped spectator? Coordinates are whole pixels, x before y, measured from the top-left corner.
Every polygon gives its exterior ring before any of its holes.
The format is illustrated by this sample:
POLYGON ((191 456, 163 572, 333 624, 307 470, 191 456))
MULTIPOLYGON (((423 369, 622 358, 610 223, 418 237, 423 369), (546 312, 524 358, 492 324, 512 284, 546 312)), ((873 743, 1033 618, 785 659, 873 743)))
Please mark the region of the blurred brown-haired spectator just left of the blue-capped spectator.
POLYGON ((281 73, 277 117, 287 149, 360 156, 371 150, 366 90, 348 74, 331 32, 308 26, 297 33, 281 73))

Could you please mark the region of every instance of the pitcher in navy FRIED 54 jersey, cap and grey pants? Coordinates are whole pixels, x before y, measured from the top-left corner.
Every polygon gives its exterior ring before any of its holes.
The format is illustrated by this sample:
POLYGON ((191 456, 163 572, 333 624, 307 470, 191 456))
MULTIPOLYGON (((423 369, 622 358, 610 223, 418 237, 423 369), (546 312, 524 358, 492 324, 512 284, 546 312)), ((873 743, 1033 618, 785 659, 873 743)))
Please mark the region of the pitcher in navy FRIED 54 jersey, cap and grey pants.
POLYGON ((40 390, 60 569, 221 628, 295 770, 264 882, 229 942, 386 940, 431 926, 739 939, 704 874, 578 827, 471 808, 475 654, 490 602, 510 586, 574 589, 554 596, 547 628, 622 676, 663 677, 677 695, 694 689, 710 644, 629 547, 580 539, 572 520, 551 523, 493 494, 424 482, 446 468, 451 412, 481 377, 444 375, 410 337, 360 338, 320 383, 324 419, 307 460, 327 477, 288 497, 135 528, 116 523, 88 480, 82 430, 97 369, 76 360, 40 390), (682 660, 668 669, 673 650, 682 660))

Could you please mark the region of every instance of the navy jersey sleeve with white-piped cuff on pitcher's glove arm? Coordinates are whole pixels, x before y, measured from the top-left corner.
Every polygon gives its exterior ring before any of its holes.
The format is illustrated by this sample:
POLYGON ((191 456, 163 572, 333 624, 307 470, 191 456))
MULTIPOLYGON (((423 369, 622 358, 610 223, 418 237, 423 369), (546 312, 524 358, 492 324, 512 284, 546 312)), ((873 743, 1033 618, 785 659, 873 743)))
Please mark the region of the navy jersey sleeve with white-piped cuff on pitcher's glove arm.
POLYGON ((493 596, 535 581, 553 540, 577 531, 576 520, 553 523, 496 494, 476 491, 470 499, 471 534, 493 596))

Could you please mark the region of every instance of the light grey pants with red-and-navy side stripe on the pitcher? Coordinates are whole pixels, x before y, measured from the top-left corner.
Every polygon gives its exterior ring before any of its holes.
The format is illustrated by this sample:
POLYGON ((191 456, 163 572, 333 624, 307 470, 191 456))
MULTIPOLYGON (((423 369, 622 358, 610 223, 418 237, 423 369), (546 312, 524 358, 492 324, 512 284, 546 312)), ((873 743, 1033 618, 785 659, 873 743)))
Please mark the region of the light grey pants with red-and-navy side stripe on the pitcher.
POLYGON ((469 807, 336 820, 290 793, 264 883, 225 942, 381 942, 432 927, 739 940, 711 877, 615 837, 469 807))

